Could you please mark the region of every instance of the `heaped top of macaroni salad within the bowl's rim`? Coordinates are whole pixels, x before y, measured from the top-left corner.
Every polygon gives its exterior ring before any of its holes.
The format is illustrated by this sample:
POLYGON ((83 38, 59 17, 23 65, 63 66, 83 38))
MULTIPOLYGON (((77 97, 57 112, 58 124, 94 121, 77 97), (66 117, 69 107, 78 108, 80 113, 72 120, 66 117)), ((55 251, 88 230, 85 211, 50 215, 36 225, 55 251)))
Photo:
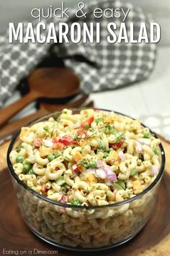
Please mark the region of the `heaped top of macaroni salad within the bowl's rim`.
POLYGON ((10 153, 28 187, 71 205, 108 205, 143 192, 160 169, 160 140, 140 121, 113 111, 64 109, 22 127, 10 153))

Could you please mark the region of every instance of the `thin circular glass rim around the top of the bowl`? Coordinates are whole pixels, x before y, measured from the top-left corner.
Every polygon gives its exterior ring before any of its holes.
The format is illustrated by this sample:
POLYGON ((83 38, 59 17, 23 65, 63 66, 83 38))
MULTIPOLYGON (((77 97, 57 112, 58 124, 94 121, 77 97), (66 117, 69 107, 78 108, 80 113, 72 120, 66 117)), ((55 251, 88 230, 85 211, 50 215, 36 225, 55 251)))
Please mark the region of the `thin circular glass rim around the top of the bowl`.
MULTIPOLYGON (((113 111, 113 110, 108 110, 108 109, 104 109, 104 108, 69 108, 69 109, 71 109, 73 111, 81 111, 82 109, 97 109, 99 111, 106 111, 106 112, 113 111)), ((118 114, 120 116, 130 117, 130 116, 126 115, 126 114, 122 114, 122 113, 117 112, 117 111, 114 111, 114 112, 115 112, 115 114, 118 114)), ((30 123, 28 123, 27 126, 30 126, 31 124, 35 124, 35 123, 37 123, 37 121, 40 121, 41 119, 44 119, 45 117, 47 117, 47 118, 49 117, 50 118, 54 114, 61 114, 61 113, 62 113, 62 111, 54 111, 54 112, 52 112, 50 114, 45 114, 44 116, 40 116, 39 118, 34 119, 30 123)), ((130 117, 130 118, 135 120, 132 117, 130 117)), ((144 125, 142 122, 140 122, 140 124, 142 124, 143 127, 146 127, 146 125, 144 125)), ((68 203, 65 203, 65 202, 55 201, 53 199, 45 197, 44 195, 40 195, 38 192, 35 192, 35 190, 33 190, 30 187, 28 187, 27 184, 24 184, 24 182, 22 182, 22 180, 19 179, 19 176, 17 176, 17 174, 15 174, 15 172, 14 172, 14 168, 13 168, 12 163, 11 163, 10 158, 9 158, 9 153, 13 149, 14 143, 16 142, 16 139, 17 139, 17 137, 18 137, 18 135, 20 133, 20 130, 21 129, 18 129, 17 132, 14 133, 14 135, 12 137, 12 142, 10 142, 10 145, 9 145, 9 148, 8 148, 8 151, 7 151, 6 161, 7 161, 7 165, 8 165, 8 168, 9 168, 9 172, 10 172, 11 176, 14 178, 14 180, 19 185, 21 185, 25 190, 29 190, 29 192, 31 192, 36 197, 39 197, 41 200, 45 200, 46 202, 52 203, 53 205, 58 205, 58 206, 63 207, 63 208, 76 208, 76 209, 81 209, 81 210, 83 210, 83 209, 86 209, 86 210, 96 210, 96 209, 112 208, 112 207, 117 207, 117 206, 120 206, 120 205, 125 205, 128 202, 132 202, 132 201, 134 201, 134 200, 136 200, 136 199, 138 199, 140 197, 143 197, 143 195, 146 195, 147 192, 149 192, 151 189, 153 189, 153 187, 155 187, 155 185, 159 182, 159 180, 161 180, 161 177, 164 174, 166 158, 165 158, 164 148, 163 148, 162 144, 160 143, 159 144, 159 149, 160 149, 160 153, 161 153, 161 168, 160 168, 160 171, 158 172, 158 175, 156 176, 156 179, 154 179, 154 181, 148 187, 146 187, 146 189, 144 189, 142 192, 140 192, 139 194, 137 194, 137 195, 135 195, 133 197, 130 197, 130 198, 126 199, 126 200, 123 200, 121 202, 114 202, 114 203, 108 204, 108 205, 71 205, 71 204, 68 204, 68 203)), ((150 130, 151 135, 153 135, 154 137, 158 138, 156 136, 155 132, 153 132, 151 129, 149 129, 149 130, 150 130)))

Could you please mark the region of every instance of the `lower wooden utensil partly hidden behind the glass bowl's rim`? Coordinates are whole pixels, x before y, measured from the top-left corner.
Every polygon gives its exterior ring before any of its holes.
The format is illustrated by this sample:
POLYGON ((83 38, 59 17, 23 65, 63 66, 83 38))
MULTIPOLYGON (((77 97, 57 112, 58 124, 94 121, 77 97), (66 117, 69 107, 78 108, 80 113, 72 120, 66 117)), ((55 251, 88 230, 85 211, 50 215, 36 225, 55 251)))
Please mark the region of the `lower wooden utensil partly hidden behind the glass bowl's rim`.
MULTIPOLYGON (((45 104, 41 103, 39 110, 34 113, 30 114, 29 116, 25 116, 21 119, 15 120, 10 122, 9 124, 4 125, 4 127, 1 127, 0 129, 0 140, 3 137, 9 136, 12 133, 16 132, 17 129, 20 127, 23 127, 24 125, 27 125, 30 121, 33 121, 34 119, 37 119, 40 116, 43 116, 45 114, 48 114, 53 111, 62 111, 63 108, 77 108, 81 106, 86 99, 89 97, 89 95, 82 96, 79 100, 74 101, 72 103, 67 103, 64 105, 51 105, 51 104, 45 104)), ((85 105, 86 107, 92 107, 93 102, 90 101, 88 104, 85 105)))

